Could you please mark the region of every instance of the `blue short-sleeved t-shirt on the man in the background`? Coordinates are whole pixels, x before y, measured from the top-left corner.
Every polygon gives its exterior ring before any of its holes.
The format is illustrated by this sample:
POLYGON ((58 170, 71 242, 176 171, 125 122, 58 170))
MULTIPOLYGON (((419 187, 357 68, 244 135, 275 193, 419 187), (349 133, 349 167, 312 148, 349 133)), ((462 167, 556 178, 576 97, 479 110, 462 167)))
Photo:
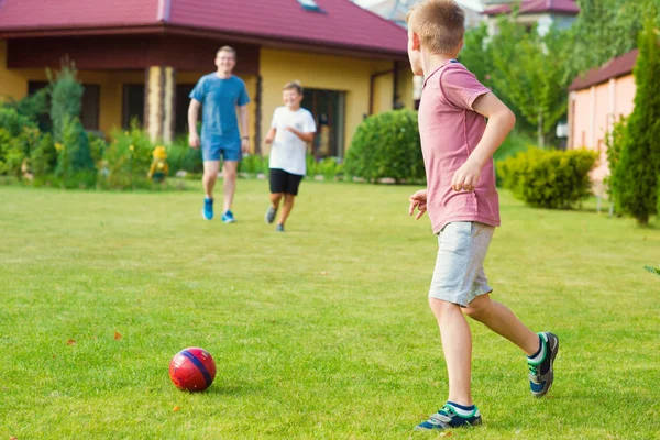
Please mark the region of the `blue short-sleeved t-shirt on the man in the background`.
POLYGON ((238 76, 218 78, 216 73, 202 76, 190 92, 202 105, 201 134, 238 138, 237 106, 250 102, 245 82, 238 76))

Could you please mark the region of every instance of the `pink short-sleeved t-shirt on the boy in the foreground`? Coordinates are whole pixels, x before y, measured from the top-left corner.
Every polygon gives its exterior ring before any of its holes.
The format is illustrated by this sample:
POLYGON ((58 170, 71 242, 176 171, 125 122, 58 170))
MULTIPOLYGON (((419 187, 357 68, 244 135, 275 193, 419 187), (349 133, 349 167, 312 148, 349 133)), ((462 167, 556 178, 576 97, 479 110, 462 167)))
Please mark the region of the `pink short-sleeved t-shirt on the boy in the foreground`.
POLYGON ((462 64, 447 62, 424 84, 419 135, 427 174, 427 211, 433 233, 452 221, 499 226, 499 199, 493 158, 482 168, 473 191, 454 191, 451 179, 481 141, 486 128, 472 103, 491 90, 462 64))

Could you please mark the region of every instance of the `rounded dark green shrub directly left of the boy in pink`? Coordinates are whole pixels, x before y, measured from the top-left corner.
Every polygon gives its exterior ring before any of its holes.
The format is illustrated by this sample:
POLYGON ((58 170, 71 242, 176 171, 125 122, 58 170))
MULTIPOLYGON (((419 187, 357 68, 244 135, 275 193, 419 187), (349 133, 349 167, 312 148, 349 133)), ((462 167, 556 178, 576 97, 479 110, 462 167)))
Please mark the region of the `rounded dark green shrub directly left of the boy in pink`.
POLYGON ((345 160, 345 173, 377 182, 425 178, 417 113, 393 110, 366 118, 358 128, 345 160))

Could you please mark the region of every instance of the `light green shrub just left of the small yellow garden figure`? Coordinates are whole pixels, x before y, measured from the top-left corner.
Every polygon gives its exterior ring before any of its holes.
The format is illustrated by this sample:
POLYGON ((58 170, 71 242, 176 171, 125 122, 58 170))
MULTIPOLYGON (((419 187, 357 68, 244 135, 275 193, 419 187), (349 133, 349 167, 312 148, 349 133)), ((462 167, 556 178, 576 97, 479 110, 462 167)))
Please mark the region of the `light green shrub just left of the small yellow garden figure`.
POLYGON ((130 131, 113 131, 105 148, 100 185, 113 189, 150 187, 147 178, 153 145, 135 122, 130 131))

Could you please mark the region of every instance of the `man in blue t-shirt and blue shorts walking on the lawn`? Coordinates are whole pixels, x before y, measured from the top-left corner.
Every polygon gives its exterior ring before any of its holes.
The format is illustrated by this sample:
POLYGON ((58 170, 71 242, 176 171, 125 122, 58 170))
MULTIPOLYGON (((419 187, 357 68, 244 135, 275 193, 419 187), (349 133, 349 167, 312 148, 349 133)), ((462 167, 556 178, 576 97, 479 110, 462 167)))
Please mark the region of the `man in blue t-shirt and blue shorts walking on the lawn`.
POLYGON ((204 209, 205 219, 213 218, 213 186, 220 170, 220 157, 223 158, 224 207, 222 221, 235 221, 231 212, 237 188, 237 168, 242 153, 250 148, 248 136, 248 102, 250 97, 245 82, 232 75, 237 65, 237 51, 223 46, 216 54, 218 70, 202 76, 190 92, 188 107, 188 142, 193 148, 201 145, 204 160, 204 209), (197 133, 197 117, 202 107, 201 140, 197 133), (237 119, 237 108, 239 118, 237 119), (241 130, 239 131, 239 122, 241 130), (243 136, 241 138, 241 133, 243 136))

